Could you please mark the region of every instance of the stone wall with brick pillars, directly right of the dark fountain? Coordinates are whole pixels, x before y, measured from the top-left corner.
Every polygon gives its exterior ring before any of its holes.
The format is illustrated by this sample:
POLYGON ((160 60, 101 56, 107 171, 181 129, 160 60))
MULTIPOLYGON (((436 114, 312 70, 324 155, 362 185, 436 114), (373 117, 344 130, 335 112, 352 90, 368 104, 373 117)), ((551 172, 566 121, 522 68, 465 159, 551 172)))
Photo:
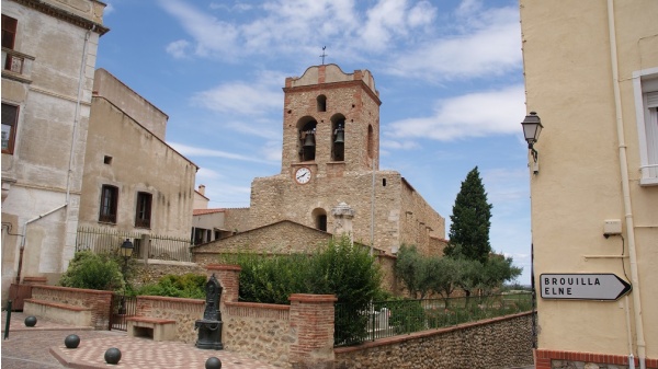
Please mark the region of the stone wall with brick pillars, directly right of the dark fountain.
POLYGON ((333 295, 293 293, 290 305, 238 302, 240 267, 211 264, 224 289, 225 348, 288 369, 333 367, 333 295))

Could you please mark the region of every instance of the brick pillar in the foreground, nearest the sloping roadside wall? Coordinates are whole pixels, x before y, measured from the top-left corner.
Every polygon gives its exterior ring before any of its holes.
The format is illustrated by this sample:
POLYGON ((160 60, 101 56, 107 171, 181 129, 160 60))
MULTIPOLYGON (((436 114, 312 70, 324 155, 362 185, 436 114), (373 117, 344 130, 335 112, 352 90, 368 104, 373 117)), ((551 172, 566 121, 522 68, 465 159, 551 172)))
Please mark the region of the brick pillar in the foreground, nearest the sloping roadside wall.
POLYGON ((293 293, 291 327, 297 341, 291 345, 293 369, 333 368, 333 295, 293 293))

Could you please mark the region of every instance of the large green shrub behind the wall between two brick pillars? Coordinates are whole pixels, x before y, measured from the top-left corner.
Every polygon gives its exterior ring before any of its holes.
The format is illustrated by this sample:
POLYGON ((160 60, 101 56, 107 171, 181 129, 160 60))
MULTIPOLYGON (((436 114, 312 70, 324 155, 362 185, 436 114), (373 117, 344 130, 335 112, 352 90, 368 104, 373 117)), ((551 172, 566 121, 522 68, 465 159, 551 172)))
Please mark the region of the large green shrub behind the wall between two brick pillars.
POLYGON ((309 255, 223 255, 222 262, 238 264, 240 300, 290 303, 292 293, 336 295, 347 315, 334 319, 337 342, 360 343, 366 336, 370 302, 382 297, 382 272, 370 250, 349 238, 331 240, 309 255), (342 337, 342 338, 338 338, 342 337))

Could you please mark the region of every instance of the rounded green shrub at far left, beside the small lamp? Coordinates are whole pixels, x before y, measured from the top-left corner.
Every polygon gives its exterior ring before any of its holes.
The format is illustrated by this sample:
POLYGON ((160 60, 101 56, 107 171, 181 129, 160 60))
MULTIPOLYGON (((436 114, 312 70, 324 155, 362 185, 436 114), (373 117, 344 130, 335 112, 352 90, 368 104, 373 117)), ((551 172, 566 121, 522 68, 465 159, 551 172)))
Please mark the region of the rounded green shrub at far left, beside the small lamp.
POLYGON ((121 267, 109 254, 79 251, 59 279, 64 287, 120 291, 124 288, 121 267))

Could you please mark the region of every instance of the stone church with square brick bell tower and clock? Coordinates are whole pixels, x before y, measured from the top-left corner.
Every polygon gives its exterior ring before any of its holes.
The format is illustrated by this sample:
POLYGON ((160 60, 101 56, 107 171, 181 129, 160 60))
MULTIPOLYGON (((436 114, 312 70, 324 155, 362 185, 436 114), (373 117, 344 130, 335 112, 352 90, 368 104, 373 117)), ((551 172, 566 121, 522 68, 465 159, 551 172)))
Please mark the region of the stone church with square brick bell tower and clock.
MULTIPOLYGON (((263 233, 265 226, 286 221, 300 232, 350 233, 379 253, 396 253, 406 243, 441 254, 444 218, 400 173, 378 169, 381 101, 371 72, 315 66, 287 78, 283 90, 281 172, 254 178, 250 207, 227 209, 224 228, 263 233)), ((229 244, 223 239, 203 250, 229 244)))

